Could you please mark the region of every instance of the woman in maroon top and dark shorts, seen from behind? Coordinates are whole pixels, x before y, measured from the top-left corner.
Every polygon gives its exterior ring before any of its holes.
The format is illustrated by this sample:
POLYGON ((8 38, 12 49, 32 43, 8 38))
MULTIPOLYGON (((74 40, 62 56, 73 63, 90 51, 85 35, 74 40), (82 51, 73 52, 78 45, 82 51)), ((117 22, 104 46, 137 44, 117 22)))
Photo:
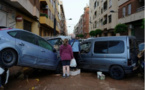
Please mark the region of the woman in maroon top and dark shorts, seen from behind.
POLYGON ((68 44, 68 39, 64 39, 63 45, 60 46, 60 57, 62 61, 63 77, 69 77, 70 60, 73 58, 71 46, 68 44))

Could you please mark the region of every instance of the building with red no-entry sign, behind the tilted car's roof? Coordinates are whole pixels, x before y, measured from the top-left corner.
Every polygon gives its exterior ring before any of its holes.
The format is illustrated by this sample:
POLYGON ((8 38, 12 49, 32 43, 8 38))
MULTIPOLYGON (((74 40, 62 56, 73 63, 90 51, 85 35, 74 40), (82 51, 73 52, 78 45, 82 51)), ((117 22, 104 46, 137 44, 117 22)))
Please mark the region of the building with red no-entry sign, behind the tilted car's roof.
POLYGON ((0 26, 19 28, 39 35, 39 0, 1 0, 0 26))

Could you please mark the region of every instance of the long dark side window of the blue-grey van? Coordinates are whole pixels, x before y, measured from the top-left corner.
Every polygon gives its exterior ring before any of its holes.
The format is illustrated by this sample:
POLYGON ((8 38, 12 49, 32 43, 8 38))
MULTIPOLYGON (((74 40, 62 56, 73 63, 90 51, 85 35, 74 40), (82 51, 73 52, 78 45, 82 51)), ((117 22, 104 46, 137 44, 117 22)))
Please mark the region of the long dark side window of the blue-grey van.
POLYGON ((112 54, 123 53, 123 41, 99 41, 95 42, 94 53, 112 54))

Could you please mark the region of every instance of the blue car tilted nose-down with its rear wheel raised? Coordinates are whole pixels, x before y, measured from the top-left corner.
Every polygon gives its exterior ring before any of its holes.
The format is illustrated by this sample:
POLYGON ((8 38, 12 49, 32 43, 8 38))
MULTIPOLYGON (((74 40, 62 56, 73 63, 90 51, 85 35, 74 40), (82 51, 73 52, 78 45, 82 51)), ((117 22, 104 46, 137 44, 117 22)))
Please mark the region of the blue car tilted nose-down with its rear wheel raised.
POLYGON ((0 65, 56 70, 59 58, 46 40, 26 30, 0 29, 0 65))

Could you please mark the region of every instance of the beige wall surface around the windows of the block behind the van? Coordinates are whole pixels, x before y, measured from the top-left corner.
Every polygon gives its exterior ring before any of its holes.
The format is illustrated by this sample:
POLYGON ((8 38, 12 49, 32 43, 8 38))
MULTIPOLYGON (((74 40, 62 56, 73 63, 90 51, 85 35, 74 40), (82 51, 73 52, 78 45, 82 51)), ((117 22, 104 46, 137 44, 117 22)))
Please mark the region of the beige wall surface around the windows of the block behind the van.
MULTIPOLYGON (((89 27, 89 31, 91 30, 96 30, 96 29, 101 29, 101 30, 104 30, 105 28, 107 29, 113 29, 116 24, 118 23, 118 0, 112 0, 112 6, 110 7, 110 4, 109 4, 109 0, 90 0, 90 27, 89 27), (97 6, 95 9, 94 9, 94 2, 95 1, 99 1, 99 6, 97 6), (103 10, 103 13, 101 13, 101 8, 103 8, 104 6, 104 2, 107 1, 107 10, 104 11, 103 10), (110 10, 114 10, 116 11, 115 13, 111 13, 110 10), (94 16, 94 13, 95 11, 97 11, 97 17, 96 18, 93 18, 94 16), (101 25, 101 22, 100 22, 100 19, 103 19, 104 21, 104 16, 107 15, 107 24, 106 25, 101 25), (109 15, 112 15, 112 22, 111 23, 108 23, 109 19, 108 19, 108 16, 109 15), (95 23, 95 21, 98 22, 98 27, 96 28, 93 28, 93 23, 95 23)), ((97 25, 96 25, 97 26, 97 25)))

